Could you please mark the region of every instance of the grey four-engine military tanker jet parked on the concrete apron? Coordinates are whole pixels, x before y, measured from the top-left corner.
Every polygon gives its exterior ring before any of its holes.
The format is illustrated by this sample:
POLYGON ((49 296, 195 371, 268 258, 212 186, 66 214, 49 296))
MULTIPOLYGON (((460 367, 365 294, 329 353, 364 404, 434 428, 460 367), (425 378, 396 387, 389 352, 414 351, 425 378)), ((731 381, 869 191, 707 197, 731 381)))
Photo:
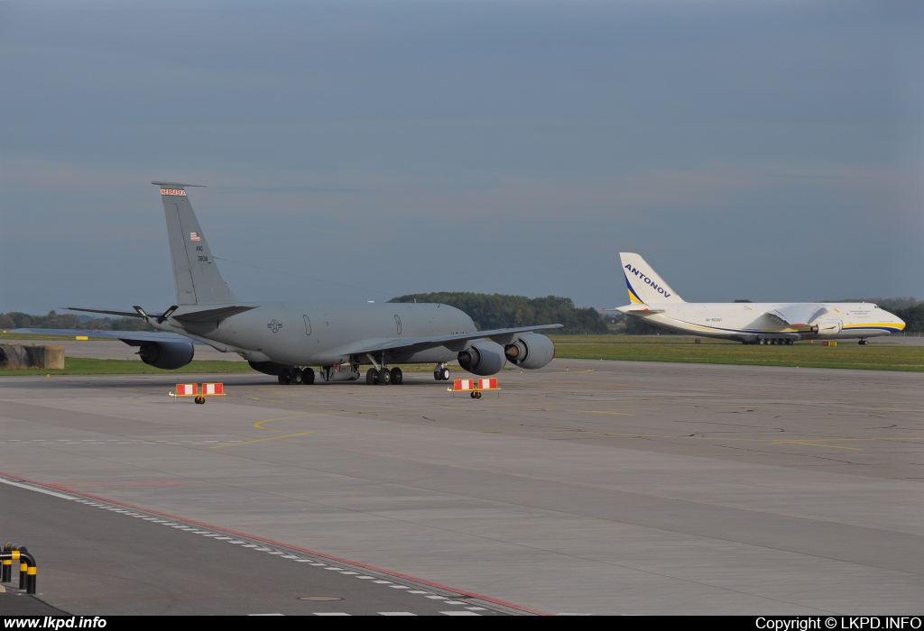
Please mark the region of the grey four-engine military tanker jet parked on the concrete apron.
POLYGON ((161 334, 126 332, 119 339, 140 347, 144 363, 167 370, 192 361, 195 340, 222 352, 236 352, 255 370, 280 384, 359 379, 400 384, 394 363, 433 363, 433 378, 449 379, 447 363, 474 375, 494 375, 505 363, 541 368, 552 361, 551 339, 536 331, 562 325, 479 331, 471 318, 447 304, 362 304, 324 308, 297 304, 251 304, 232 293, 218 271, 205 233, 189 204, 186 188, 153 182, 161 190, 176 284, 176 304, 160 315, 140 306, 134 312, 68 307, 72 311, 143 317, 161 334), (164 335, 173 334, 173 335, 164 335), (177 337, 179 334, 183 337, 177 337), (164 335, 163 339, 156 335, 164 335))

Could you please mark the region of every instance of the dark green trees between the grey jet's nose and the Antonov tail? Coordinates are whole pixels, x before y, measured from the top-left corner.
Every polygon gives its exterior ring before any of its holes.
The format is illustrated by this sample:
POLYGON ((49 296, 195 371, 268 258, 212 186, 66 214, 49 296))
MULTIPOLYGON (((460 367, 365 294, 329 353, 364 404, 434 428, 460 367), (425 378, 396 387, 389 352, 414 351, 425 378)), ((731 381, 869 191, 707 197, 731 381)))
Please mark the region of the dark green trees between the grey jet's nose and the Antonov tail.
POLYGON ((480 330, 563 324, 564 328, 551 332, 559 335, 600 335, 609 332, 596 309, 578 308, 570 298, 560 296, 527 298, 503 293, 432 292, 409 293, 388 302, 448 304, 470 315, 480 330))

